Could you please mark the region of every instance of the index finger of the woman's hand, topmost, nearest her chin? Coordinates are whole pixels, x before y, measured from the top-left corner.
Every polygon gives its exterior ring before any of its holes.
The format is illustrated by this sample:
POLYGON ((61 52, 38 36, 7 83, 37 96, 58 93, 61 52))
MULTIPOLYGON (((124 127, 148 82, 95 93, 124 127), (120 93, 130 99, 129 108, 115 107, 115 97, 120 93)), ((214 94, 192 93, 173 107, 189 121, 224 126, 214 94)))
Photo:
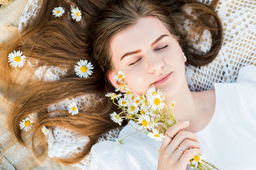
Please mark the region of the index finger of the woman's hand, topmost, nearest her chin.
POLYGON ((188 122, 188 124, 185 124, 184 122, 178 122, 177 124, 173 125, 169 129, 167 129, 167 131, 165 133, 166 138, 163 140, 163 143, 162 143, 160 149, 168 146, 170 144, 170 142, 172 141, 172 139, 174 138, 175 134, 177 134, 182 129, 185 129, 186 127, 188 127, 188 125, 189 125, 189 122, 188 122))

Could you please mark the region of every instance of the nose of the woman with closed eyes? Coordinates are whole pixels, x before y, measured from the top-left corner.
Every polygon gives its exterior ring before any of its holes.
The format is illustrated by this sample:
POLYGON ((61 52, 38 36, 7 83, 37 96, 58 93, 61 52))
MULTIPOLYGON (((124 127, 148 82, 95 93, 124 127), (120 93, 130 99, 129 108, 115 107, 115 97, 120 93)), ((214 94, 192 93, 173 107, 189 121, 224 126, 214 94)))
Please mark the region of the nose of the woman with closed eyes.
POLYGON ((160 71, 163 68, 163 66, 164 66, 164 61, 161 58, 161 56, 154 53, 148 54, 147 67, 148 67, 149 73, 160 71))

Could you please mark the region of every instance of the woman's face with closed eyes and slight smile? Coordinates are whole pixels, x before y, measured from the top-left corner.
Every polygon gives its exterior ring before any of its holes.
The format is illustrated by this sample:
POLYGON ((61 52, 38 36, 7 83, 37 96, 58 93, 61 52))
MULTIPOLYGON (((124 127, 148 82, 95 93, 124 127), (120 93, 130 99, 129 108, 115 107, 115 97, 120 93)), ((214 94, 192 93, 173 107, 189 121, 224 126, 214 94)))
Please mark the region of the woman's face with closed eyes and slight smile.
POLYGON ((108 78, 115 87, 118 82, 113 76, 118 71, 124 73, 129 89, 138 95, 153 85, 172 95, 186 83, 184 53, 156 17, 140 18, 137 24, 118 32, 110 48, 114 68, 108 78))

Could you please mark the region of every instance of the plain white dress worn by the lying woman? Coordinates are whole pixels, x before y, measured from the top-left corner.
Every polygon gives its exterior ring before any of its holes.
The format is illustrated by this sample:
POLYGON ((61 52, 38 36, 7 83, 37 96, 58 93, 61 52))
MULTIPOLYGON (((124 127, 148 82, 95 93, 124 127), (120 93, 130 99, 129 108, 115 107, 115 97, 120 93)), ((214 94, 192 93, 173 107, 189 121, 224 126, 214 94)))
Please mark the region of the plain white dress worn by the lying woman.
MULTIPOLYGON (((243 67, 237 83, 214 83, 214 87, 214 115, 202 131, 196 132, 202 155, 219 169, 256 169, 256 67, 243 67)), ((118 140, 136 132, 134 127, 140 129, 140 125, 129 122, 118 140)), ((102 141, 92 147, 91 169, 156 170, 160 147, 161 142, 144 132, 125 138, 122 145, 102 141)))

